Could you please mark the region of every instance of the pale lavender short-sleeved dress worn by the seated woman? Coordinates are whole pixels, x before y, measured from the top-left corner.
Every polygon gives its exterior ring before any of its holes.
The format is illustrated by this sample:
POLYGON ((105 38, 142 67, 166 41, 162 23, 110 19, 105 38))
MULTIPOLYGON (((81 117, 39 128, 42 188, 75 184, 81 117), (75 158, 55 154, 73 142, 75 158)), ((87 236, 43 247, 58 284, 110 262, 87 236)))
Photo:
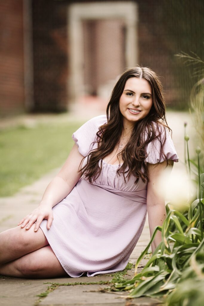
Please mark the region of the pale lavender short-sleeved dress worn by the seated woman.
MULTIPOLYGON (((106 115, 97 116, 73 133, 72 138, 84 157, 93 144, 98 128, 107 123, 106 115)), ((147 145, 147 162, 160 158, 158 139, 147 145)), ((167 133, 164 153, 178 161, 171 136, 167 133)), ((83 165, 87 158, 83 160, 83 165)), ((130 177, 125 184, 117 175, 120 165, 102 160, 100 176, 89 183, 81 177, 72 191, 53 207, 54 221, 50 230, 46 220, 40 227, 61 266, 71 277, 112 273, 123 270, 142 233, 147 214, 147 184, 130 177)))

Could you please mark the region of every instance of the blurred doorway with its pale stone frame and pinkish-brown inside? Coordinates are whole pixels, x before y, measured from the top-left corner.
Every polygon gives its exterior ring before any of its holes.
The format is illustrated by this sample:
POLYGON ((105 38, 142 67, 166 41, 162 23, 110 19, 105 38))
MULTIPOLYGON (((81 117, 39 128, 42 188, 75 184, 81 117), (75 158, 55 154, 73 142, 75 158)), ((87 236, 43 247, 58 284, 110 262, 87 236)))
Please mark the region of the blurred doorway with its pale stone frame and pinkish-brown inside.
POLYGON ((68 18, 70 102, 106 103, 117 76, 138 61, 136 3, 74 3, 68 18))

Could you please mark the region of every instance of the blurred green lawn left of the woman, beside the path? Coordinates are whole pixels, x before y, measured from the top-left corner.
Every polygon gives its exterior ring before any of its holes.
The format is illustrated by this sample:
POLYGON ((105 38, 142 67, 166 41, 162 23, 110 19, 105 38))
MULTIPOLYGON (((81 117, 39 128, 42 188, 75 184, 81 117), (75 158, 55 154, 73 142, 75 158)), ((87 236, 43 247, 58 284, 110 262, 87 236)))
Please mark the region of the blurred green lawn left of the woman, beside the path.
POLYGON ((11 196, 65 162, 82 124, 24 125, 0 131, 0 196, 11 196))

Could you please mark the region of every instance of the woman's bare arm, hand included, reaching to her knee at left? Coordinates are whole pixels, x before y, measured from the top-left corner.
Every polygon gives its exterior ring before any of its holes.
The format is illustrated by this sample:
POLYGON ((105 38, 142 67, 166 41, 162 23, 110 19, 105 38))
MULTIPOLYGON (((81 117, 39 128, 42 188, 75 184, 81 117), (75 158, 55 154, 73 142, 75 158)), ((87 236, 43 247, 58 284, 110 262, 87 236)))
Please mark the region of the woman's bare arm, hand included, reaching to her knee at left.
POLYGON ((50 229, 53 221, 52 207, 63 200, 79 181, 80 173, 78 170, 81 170, 82 159, 83 155, 79 153, 77 145, 74 144, 64 166, 47 186, 39 206, 18 223, 21 228, 26 226, 26 230, 29 230, 36 221, 34 229, 36 232, 43 219, 46 219, 47 229, 50 229))

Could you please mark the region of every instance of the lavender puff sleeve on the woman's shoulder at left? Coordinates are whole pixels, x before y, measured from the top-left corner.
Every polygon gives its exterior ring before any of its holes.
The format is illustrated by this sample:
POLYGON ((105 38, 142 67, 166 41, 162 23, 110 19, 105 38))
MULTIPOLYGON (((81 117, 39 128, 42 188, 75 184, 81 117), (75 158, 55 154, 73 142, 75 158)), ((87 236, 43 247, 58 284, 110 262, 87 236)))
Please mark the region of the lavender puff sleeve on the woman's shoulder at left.
POLYGON ((93 149, 94 144, 92 142, 96 140, 96 133, 99 127, 106 123, 106 115, 97 116, 84 123, 72 134, 72 139, 75 141, 81 155, 85 157, 93 149))

